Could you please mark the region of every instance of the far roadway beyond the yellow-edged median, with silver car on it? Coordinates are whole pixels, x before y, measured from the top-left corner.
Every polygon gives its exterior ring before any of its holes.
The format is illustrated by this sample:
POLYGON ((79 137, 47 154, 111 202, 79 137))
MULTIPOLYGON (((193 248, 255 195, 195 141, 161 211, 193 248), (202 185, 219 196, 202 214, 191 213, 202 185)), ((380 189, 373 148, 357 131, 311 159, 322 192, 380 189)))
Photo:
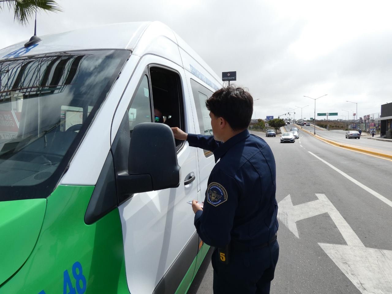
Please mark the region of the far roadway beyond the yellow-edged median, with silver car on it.
MULTIPOLYGON (((289 127, 289 125, 287 125, 286 127, 289 127)), ((303 126, 303 128, 312 133, 314 131, 314 127, 303 126)), ((346 143, 350 145, 370 147, 370 148, 392 152, 392 142, 371 140, 368 139, 371 137, 369 135, 361 136, 361 139, 346 139, 346 132, 347 131, 343 131, 343 130, 321 131, 319 129, 316 129, 316 134, 326 139, 330 139, 336 142, 346 143)))

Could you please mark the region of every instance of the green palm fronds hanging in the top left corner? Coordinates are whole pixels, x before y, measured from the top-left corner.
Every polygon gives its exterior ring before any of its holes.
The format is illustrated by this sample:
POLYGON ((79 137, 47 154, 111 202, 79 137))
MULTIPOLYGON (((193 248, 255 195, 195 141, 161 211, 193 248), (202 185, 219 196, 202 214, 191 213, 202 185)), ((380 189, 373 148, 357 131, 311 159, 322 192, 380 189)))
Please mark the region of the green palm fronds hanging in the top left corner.
POLYGON ((41 11, 61 11, 60 6, 54 0, 0 0, 0 10, 5 7, 5 4, 9 10, 14 11, 14 20, 22 25, 28 24, 29 19, 34 16, 36 8, 41 11))

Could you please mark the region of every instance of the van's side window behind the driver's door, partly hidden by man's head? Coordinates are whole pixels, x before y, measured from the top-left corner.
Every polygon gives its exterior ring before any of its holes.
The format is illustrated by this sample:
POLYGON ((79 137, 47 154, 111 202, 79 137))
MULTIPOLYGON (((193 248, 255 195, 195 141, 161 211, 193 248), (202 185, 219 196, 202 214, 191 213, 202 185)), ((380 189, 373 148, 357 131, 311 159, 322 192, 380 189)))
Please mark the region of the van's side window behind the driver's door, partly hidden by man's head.
MULTIPOLYGON (((196 105, 196 113, 199 122, 201 135, 212 135, 210 111, 205 106, 205 100, 211 97, 212 92, 200 83, 191 79, 192 94, 196 105)), ((205 150, 204 155, 211 155, 211 152, 205 150)))

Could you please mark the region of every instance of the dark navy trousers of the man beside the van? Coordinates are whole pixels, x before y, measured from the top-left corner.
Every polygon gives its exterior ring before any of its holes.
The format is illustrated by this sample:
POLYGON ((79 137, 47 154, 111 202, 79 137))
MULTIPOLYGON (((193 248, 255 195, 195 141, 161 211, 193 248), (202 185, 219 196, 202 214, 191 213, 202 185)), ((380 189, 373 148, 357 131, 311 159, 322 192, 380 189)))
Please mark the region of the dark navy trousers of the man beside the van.
POLYGON ((218 255, 215 249, 211 258, 214 294, 269 294, 279 258, 277 240, 257 250, 231 250, 228 265, 218 255))

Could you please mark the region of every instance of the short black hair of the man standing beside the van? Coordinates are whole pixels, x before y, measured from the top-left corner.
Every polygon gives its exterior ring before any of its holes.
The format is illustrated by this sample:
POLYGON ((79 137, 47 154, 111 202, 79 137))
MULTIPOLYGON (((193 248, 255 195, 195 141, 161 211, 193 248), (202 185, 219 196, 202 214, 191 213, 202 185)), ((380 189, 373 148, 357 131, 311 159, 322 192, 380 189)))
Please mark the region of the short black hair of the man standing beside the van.
POLYGON ((253 114, 252 95, 232 85, 215 91, 205 105, 216 117, 227 120, 233 131, 247 129, 253 114))

